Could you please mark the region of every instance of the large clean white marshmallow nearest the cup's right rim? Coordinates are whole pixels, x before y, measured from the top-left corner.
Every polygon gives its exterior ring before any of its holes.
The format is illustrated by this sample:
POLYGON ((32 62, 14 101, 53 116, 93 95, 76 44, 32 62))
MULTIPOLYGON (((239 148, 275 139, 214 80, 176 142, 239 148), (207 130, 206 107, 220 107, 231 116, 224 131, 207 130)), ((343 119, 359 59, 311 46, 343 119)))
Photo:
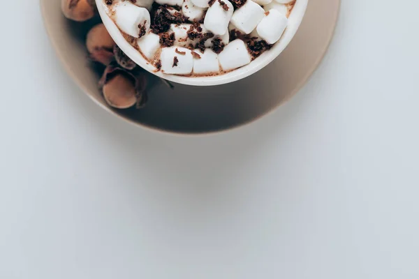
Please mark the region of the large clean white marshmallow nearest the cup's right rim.
POLYGON ((267 13, 258 24, 256 30, 260 38, 266 40, 267 43, 277 43, 288 25, 288 19, 285 15, 274 9, 269 10, 267 13))

